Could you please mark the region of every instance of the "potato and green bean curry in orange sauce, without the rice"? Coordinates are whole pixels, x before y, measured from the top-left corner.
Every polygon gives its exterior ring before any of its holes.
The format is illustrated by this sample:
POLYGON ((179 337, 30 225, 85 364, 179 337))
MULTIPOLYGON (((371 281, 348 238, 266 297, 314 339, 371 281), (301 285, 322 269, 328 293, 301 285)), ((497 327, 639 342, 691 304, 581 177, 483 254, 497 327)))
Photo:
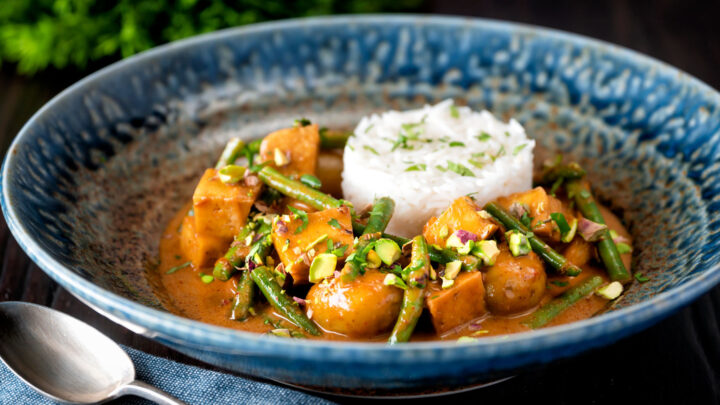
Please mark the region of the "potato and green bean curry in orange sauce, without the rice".
POLYGON ((576 163, 404 238, 384 233, 392 199, 342 199, 347 136, 298 120, 232 139, 162 236, 166 306, 287 338, 470 341, 591 317, 632 280, 630 235, 576 163))

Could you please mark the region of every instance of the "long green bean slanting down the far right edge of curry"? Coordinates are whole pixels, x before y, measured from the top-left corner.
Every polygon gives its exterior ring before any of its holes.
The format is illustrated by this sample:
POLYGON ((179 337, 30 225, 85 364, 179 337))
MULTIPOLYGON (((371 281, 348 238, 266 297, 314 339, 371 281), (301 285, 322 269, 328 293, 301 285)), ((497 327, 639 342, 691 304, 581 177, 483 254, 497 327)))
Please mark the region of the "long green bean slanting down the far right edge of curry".
MULTIPOLYGON (((583 216, 590 221, 605 225, 605 219, 600 213, 600 209, 590 192, 587 182, 582 180, 573 180, 565 185, 569 196, 572 196, 577 204, 578 209, 583 216)), ((632 281, 630 272, 625 268, 625 264, 620 257, 615 242, 610 236, 610 230, 605 229, 600 241, 597 243, 598 253, 605 265, 608 275, 612 281, 619 281, 627 284, 632 281)))

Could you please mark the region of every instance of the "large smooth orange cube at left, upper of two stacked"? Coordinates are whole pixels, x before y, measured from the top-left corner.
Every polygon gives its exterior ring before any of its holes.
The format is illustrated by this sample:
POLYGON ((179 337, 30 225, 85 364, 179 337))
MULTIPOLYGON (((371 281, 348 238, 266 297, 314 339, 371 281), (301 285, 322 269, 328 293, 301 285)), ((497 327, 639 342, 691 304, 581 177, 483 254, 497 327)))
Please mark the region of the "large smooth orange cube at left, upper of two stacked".
POLYGON ((215 169, 207 169, 193 194, 195 228, 199 235, 232 239, 247 222, 261 184, 225 184, 215 169))

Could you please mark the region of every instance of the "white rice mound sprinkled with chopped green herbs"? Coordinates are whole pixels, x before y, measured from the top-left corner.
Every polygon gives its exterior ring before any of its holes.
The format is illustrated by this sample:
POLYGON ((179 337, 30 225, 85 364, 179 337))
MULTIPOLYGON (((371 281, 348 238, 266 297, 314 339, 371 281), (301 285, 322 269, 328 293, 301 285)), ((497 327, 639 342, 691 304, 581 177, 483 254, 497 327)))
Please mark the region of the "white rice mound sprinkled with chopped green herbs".
POLYGON ((532 185, 535 141, 515 120, 452 100, 364 117, 345 146, 342 188, 357 209, 395 200, 387 232, 411 237, 456 198, 483 205, 532 185))

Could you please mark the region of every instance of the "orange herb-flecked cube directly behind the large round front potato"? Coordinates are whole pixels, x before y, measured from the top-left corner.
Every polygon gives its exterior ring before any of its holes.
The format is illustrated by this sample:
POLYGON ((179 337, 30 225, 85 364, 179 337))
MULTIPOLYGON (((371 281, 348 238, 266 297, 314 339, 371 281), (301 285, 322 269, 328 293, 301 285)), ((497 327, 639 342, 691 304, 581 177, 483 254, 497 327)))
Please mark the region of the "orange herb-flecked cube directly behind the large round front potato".
POLYGON ((301 219, 286 221, 281 217, 272 230, 275 250, 285 266, 285 271, 290 273, 296 284, 308 282, 310 263, 315 255, 327 251, 328 239, 334 246, 347 246, 344 254, 338 257, 338 262, 352 253, 353 249, 352 222, 347 207, 311 212, 307 216, 307 227, 298 234, 295 232, 303 223, 301 219), (331 225, 335 222, 333 219, 337 221, 339 228, 331 225), (310 246, 316 241, 318 242, 314 246, 310 246))

